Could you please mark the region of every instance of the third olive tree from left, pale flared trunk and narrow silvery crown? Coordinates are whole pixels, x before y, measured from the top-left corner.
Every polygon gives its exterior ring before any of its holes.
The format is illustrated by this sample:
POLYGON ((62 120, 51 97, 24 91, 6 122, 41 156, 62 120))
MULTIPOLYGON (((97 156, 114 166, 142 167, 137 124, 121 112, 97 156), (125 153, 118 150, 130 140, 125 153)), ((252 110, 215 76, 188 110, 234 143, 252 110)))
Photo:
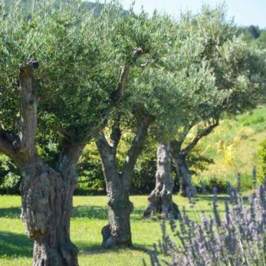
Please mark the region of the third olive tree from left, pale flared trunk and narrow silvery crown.
MULTIPOLYGON (((155 189, 148 197, 148 207, 144 217, 162 213, 165 216, 178 218, 179 211, 172 202, 173 181, 171 175, 170 144, 176 132, 181 134, 184 125, 191 120, 199 120, 198 106, 204 102, 214 104, 222 97, 215 86, 215 78, 211 66, 206 59, 199 57, 206 49, 202 45, 200 34, 193 31, 190 13, 181 15, 176 24, 179 31, 179 50, 161 60, 166 73, 174 74, 176 90, 181 92, 179 106, 175 107, 174 116, 165 116, 162 124, 153 128, 158 146, 158 169, 155 189), (195 111, 197 110, 197 111, 195 111), (195 117, 196 116, 196 117, 195 117)), ((170 101, 172 99, 169 99, 170 101)))

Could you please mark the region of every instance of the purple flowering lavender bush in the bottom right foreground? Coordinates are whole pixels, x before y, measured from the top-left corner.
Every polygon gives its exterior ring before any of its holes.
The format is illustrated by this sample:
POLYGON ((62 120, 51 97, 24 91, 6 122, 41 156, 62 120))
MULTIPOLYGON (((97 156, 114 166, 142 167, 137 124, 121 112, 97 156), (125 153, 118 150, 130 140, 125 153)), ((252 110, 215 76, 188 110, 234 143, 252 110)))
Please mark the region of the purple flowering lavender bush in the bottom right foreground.
POLYGON ((162 242, 151 252, 151 265, 266 265, 266 182, 245 204, 237 189, 230 188, 225 217, 217 210, 214 190, 213 211, 213 217, 202 212, 201 222, 196 223, 183 209, 179 230, 170 221, 177 241, 167 235, 162 223, 162 242))

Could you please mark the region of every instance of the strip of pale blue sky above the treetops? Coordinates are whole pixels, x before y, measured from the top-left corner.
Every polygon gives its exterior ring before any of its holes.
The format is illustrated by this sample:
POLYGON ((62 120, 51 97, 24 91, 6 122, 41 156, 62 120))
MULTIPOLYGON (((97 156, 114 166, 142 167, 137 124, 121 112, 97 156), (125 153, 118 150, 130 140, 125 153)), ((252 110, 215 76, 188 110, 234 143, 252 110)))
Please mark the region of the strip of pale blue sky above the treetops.
MULTIPOLYGON (((200 10, 202 3, 209 3, 216 6, 223 0, 135 0, 134 10, 139 12, 141 6, 148 13, 153 10, 161 10, 172 15, 179 14, 180 10, 200 10)), ((132 0, 120 0, 124 9, 128 10, 132 0)), ((235 18, 239 26, 258 25, 261 29, 266 29, 266 0, 225 0, 228 8, 228 18, 235 18)))

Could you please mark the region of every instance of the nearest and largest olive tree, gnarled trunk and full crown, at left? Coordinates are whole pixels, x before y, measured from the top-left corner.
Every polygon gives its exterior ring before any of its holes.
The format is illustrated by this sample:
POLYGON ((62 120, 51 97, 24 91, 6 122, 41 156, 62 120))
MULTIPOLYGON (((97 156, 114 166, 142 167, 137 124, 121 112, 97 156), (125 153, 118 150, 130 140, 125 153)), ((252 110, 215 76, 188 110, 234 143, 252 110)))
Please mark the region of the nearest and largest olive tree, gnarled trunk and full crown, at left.
MULTIPOLYGON (((34 265, 78 265, 69 236, 76 164, 148 50, 120 45, 121 12, 112 3, 96 17, 78 1, 59 10, 38 1, 30 16, 1 6, 0 151, 23 173, 21 217, 34 239, 34 265), (43 131, 59 145, 52 166, 39 153, 43 131)), ((134 32, 134 24, 124 30, 134 32)))

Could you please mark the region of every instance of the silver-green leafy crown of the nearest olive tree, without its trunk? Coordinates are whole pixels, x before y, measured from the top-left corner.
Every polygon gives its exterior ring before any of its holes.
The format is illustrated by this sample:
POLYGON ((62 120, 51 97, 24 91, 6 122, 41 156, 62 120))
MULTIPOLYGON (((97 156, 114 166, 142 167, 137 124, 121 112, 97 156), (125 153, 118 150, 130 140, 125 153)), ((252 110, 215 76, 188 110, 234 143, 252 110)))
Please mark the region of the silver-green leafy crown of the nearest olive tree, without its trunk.
MULTIPOLYGON (((1 6, 1 127, 18 132, 20 64, 35 57, 39 125, 87 141, 106 119, 123 66, 132 69, 169 52, 167 16, 128 13, 116 2, 99 15, 81 1, 35 1, 30 15, 1 6), (167 22, 167 23, 165 23, 167 22), (139 59, 137 52, 143 52, 139 59)), ((134 99, 135 101, 136 99, 134 99)))

